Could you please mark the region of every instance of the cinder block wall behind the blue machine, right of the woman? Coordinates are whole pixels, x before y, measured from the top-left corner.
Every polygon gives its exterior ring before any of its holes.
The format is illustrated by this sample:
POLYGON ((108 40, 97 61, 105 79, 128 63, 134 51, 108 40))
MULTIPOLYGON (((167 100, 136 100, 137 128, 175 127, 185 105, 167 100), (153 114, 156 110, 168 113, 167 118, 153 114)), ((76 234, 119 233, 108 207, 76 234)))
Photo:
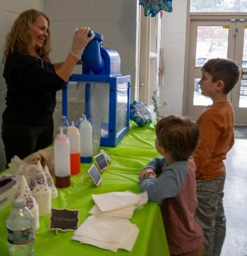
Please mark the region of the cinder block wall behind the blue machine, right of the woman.
MULTIPOLYGON (((76 27, 90 27, 104 36, 104 47, 121 57, 121 72, 131 75, 131 101, 137 97, 139 5, 136 0, 44 0, 44 12, 51 21, 52 61, 63 61, 70 50, 76 27)), ((76 66, 74 73, 81 73, 76 66)), ((61 118, 61 92, 57 93, 54 132, 61 118)), ((81 115, 83 90, 69 89, 69 121, 81 115)))

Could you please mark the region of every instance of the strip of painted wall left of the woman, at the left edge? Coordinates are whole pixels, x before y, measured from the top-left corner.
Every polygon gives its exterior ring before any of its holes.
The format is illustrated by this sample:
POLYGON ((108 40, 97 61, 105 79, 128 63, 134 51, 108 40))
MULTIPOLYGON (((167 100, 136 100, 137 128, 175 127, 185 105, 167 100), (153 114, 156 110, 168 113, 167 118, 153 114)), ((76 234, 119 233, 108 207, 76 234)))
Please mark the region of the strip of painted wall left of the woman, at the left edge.
MULTIPOLYGON (((2 77, 4 65, 2 64, 5 37, 14 24, 18 15, 26 9, 43 11, 43 0, 1 0, 0 1, 0 135, 2 133, 2 113, 5 110, 5 95, 7 86, 2 77)), ((2 137, 0 136, 0 171, 5 169, 5 153, 2 137)))

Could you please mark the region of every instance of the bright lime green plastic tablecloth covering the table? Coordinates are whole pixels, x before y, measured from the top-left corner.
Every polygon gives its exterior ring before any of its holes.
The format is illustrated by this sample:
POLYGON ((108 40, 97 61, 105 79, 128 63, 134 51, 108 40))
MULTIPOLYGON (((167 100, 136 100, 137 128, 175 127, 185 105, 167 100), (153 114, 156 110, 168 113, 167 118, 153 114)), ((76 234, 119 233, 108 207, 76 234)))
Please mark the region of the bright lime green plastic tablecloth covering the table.
MULTIPOLYGON (((52 207, 79 210, 79 225, 81 225, 94 204, 91 194, 126 190, 140 193, 139 172, 150 159, 157 155, 154 141, 153 124, 140 128, 131 123, 129 133, 116 148, 102 148, 111 156, 113 162, 103 172, 100 187, 95 187, 87 174, 91 165, 82 164, 81 173, 71 177, 70 187, 58 190, 58 197, 52 200, 52 207)), ((5 220, 10 210, 11 206, 8 206, 0 212, 1 256, 8 255, 5 220)), ((40 228, 36 231, 36 256, 169 255, 158 204, 147 203, 142 209, 134 212, 131 222, 139 228, 139 235, 132 252, 123 249, 112 252, 72 241, 73 231, 59 231, 58 235, 54 235, 54 231, 48 228, 49 217, 49 215, 40 217, 40 228)))

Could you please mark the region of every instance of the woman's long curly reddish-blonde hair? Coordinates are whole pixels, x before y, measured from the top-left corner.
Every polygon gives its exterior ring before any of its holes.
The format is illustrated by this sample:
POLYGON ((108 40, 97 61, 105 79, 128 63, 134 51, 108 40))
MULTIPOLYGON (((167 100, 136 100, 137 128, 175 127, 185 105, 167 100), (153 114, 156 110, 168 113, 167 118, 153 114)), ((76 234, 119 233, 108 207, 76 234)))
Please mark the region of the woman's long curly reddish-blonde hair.
POLYGON ((6 37, 6 43, 4 47, 4 57, 2 62, 5 63, 7 56, 13 52, 20 52, 33 57, 43 56, 46 62, 50 62, 49 53, 50 48, 50 31, 48 31, 48 37, 44 41, 43 46, 37 52, 32 44, 33 42, 33 30, 31 25, 36 21, 37 17, 43 16, 48 22, 50 27, 49 18, 43 12, 37 11, 36 9, 29 9, 22 12, 18 18, 15 20, 14 25, 12 25, 10 32, 6 37))

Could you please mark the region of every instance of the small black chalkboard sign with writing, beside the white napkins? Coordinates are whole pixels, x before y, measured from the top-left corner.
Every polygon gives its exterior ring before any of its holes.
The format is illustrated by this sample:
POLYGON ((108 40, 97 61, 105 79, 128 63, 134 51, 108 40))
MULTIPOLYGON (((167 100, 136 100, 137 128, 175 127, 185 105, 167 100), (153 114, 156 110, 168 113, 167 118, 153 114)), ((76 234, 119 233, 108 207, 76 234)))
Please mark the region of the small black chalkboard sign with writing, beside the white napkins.
POLYGON ((78 228, 78 210, 52 209, 50 229, 61 231, 75 231, 78 228))

